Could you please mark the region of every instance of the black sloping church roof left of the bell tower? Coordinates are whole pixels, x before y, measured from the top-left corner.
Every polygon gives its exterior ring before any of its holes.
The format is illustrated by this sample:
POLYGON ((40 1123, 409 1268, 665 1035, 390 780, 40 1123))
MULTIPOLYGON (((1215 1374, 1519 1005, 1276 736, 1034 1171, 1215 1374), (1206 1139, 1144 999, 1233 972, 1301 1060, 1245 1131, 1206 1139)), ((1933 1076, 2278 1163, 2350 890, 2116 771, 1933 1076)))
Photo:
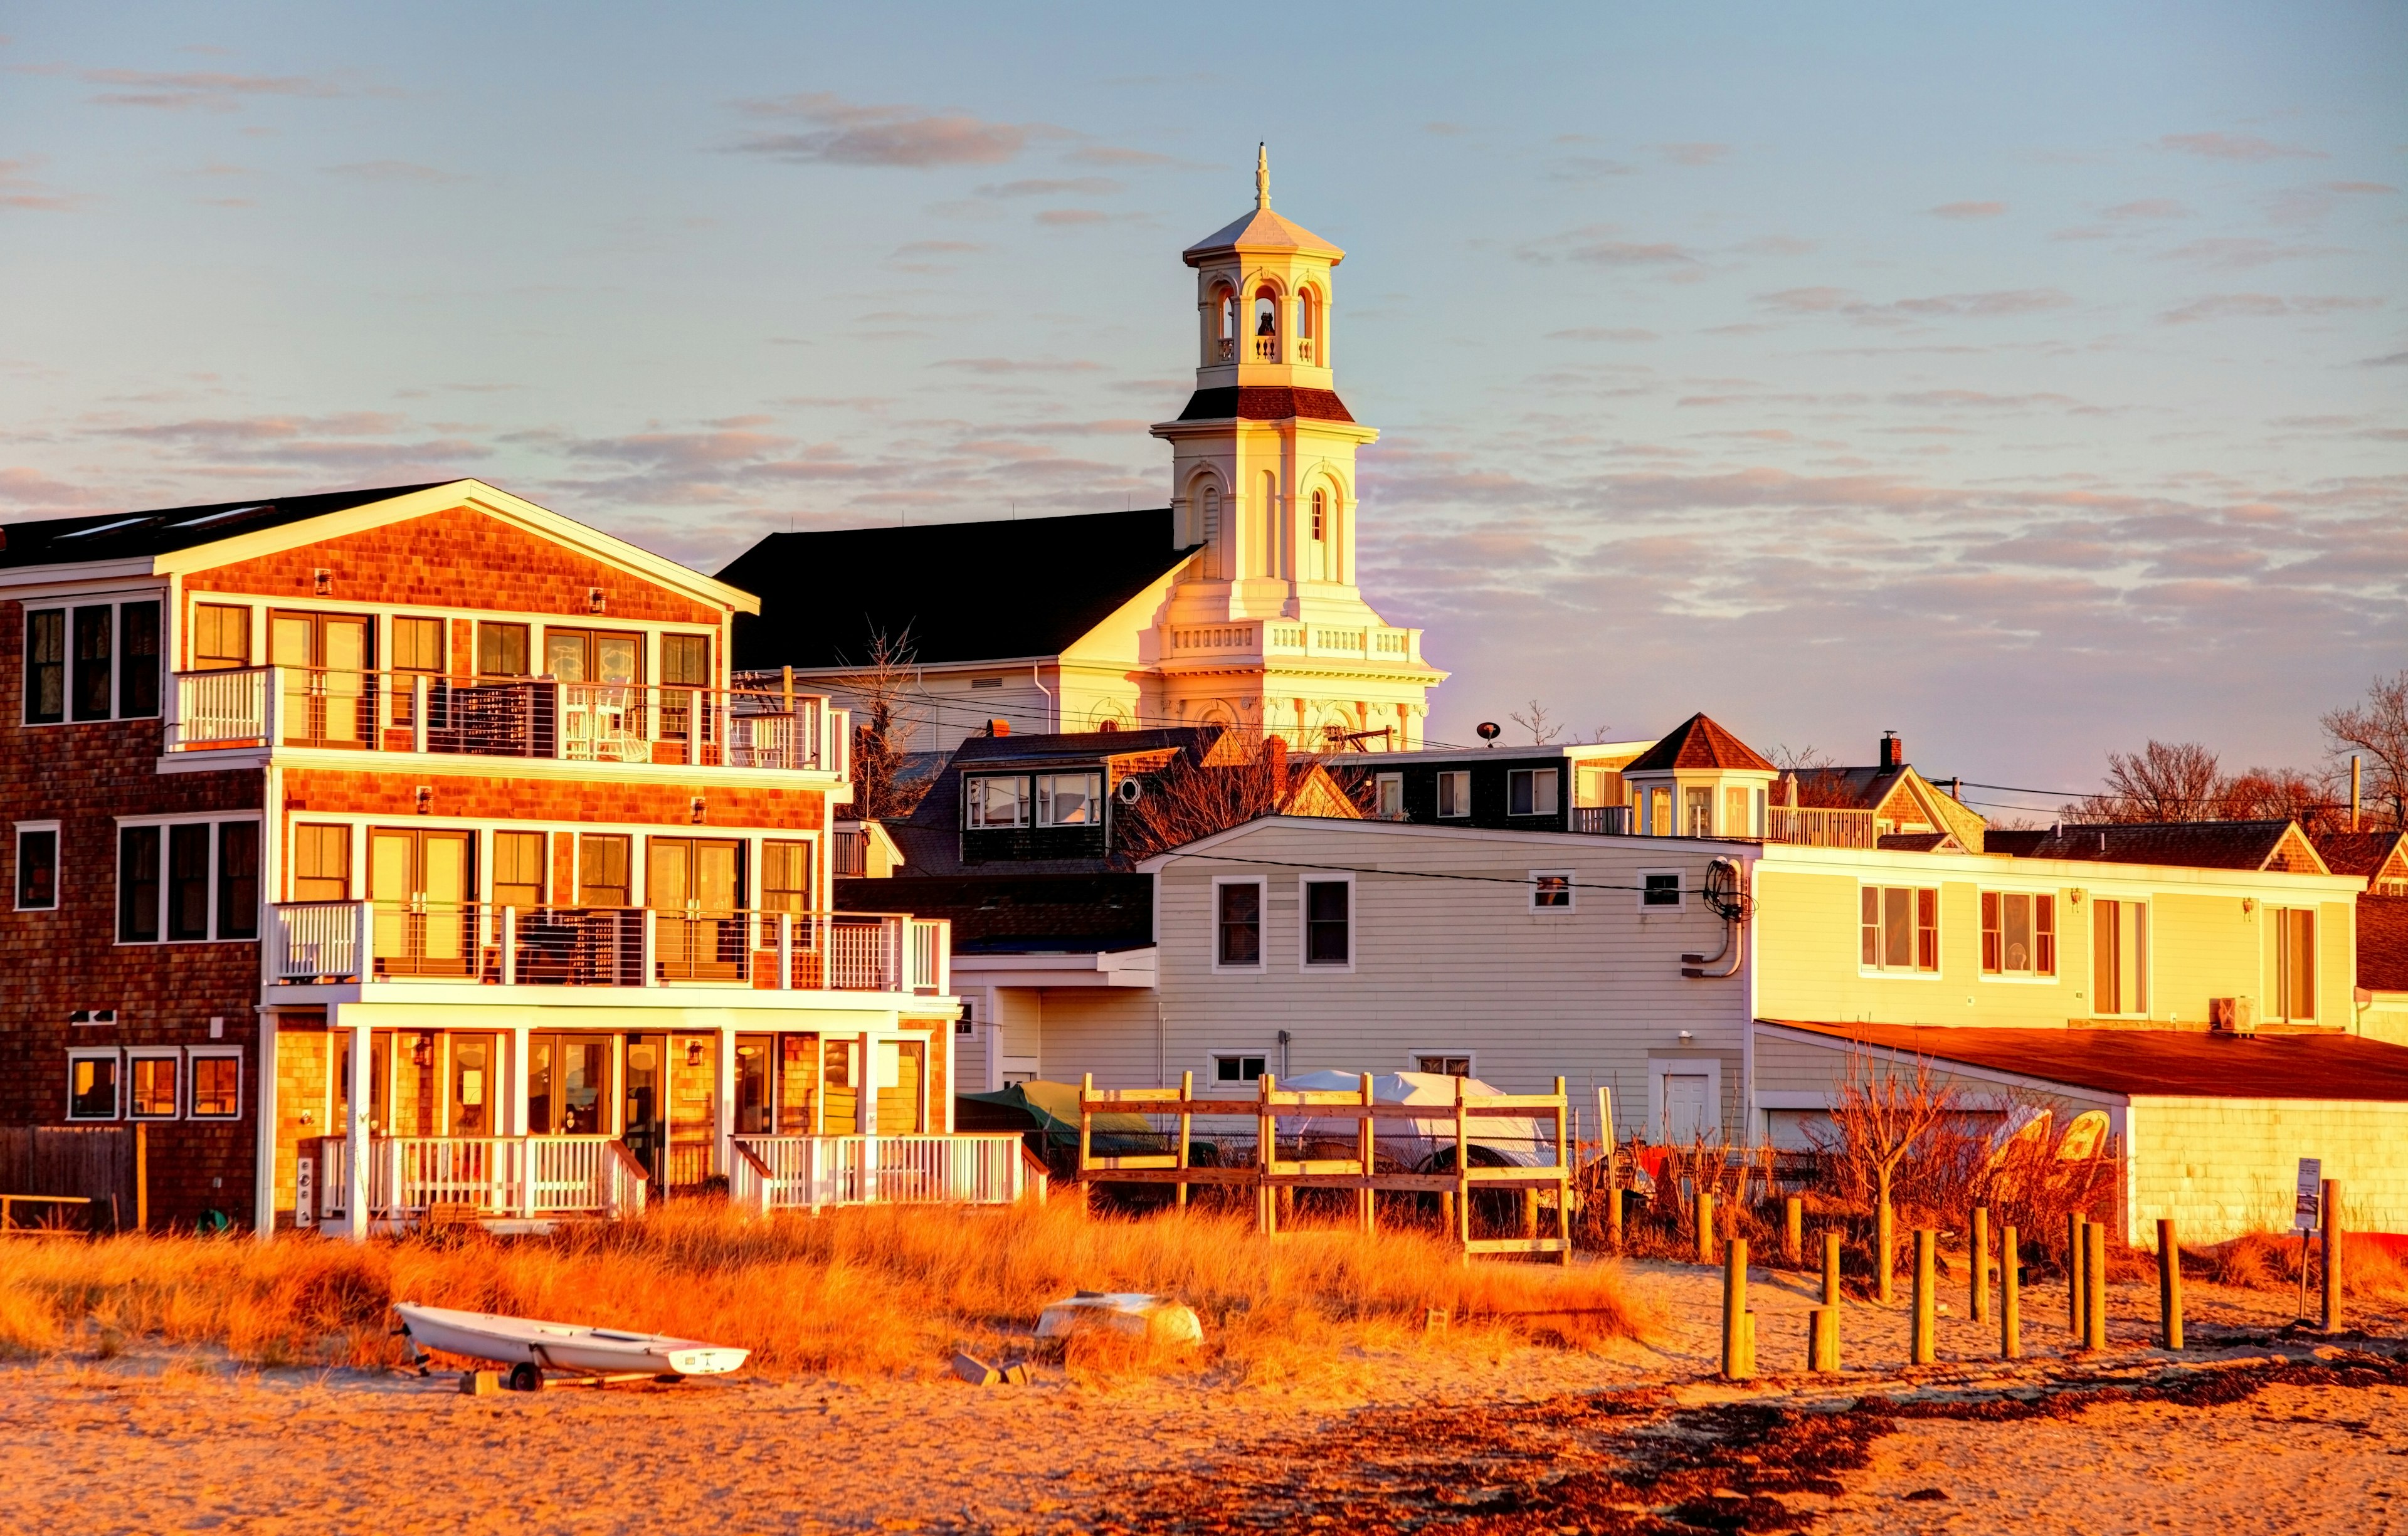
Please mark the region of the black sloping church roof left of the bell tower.
POLYGON ((1062 655, 1178 571, 1170 508, 768 534, 720 580, 761 599, 737 614, 734 664, 860 664, 869 633, 910 631, 922 662, 1062 655))

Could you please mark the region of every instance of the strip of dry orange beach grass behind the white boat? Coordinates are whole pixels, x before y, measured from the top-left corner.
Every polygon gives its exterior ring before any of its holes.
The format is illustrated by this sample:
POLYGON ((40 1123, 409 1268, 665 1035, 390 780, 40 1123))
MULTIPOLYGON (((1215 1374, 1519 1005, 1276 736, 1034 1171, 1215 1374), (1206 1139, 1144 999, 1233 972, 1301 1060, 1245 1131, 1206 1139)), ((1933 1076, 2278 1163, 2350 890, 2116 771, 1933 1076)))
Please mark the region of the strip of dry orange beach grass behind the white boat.
POLYGON ((395 1300, 650 1329, 754 1351, 759 1370, 910 1377, 954 1348, 1026 1348, 1072 1290, 1156 1290, 1192 1305, 1190 1360, 1230 1382, 1310 1375, 1348 1346, 1418 1336, 1430 1310, 1464 1348, 1505 1334, 1633 1336, 1613 1266, 1459 1262, 1423 1233, 1303 1230, 1267 1240, 1230 1216, 1108 1221, 1074 1204, 1004 1213, 860 1209, 742 1221, 681 1201, 551 1237, 111 1237, 0 1247, 0 1348, 104 1353, 212 1343, 258 1365, 383 1365, 395 1300))

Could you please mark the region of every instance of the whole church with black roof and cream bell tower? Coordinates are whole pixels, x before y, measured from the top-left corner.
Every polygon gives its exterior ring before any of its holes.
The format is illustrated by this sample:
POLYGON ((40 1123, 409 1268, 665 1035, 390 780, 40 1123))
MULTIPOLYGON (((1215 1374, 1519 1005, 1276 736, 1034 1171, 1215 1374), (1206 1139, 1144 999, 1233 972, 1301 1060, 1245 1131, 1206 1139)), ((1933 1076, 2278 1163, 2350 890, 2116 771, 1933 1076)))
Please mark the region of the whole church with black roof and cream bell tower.
POLYGON ((1303 749, 1406 751, 1447 674, 1356 585, 1356 448, 1336 392, 1334 243, 1255 207, 1190 246, 1197 385, 1170 506, 1072 518, 768 534, 720 573, 761 595, 744 672, 840 698, 872 636, 903 640, 903 751, 1004 720, 1088 732, 1233 725, 1303 749), (836 590, 852 597, 831 604, 836 590))

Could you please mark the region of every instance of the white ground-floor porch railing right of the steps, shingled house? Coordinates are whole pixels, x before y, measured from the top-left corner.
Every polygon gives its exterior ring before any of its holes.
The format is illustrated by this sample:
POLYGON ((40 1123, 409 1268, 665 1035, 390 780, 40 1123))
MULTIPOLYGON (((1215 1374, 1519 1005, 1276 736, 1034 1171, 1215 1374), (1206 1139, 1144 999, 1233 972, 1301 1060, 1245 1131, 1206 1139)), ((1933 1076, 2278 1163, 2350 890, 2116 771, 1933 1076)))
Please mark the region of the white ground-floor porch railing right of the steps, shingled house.
POLYGON ((1038 1187, 1021 1139, 737 1136, 727 1199, 744 1211, 821 1206, 1009 1206, 1038 1187))

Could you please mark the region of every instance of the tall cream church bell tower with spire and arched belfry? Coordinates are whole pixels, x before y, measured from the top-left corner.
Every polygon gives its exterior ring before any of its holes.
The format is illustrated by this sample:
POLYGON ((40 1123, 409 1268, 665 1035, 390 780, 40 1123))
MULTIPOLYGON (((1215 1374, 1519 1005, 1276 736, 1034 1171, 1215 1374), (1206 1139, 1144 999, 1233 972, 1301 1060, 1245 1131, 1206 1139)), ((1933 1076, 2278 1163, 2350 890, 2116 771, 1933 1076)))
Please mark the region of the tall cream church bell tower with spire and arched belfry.
POLYGON ((1197 274, 1197 388, 1170 443, 1173 537, 1199 547, 1170 587, 1163 708, 1279 732, 1310 751, 1421 744, 1421 631, 1389 628, 1356 587, 1356 448, 1336 395, 1334 274, 1346 253, 1255 207, 1182 255, 1197 274))

